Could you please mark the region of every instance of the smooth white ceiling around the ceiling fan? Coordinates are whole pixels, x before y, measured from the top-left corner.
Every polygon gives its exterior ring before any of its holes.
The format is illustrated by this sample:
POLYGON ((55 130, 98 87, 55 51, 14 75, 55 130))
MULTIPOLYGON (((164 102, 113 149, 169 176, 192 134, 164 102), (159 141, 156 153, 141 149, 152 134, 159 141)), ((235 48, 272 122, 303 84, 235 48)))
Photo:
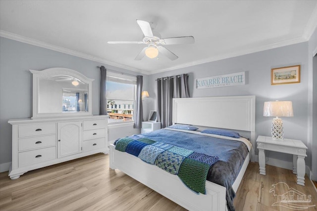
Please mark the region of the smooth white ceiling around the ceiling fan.
POLYGON ((0 36, 152 74, 308 41, 317 0, 0 0, 0 36), (179 58, 134 60, 145 44, 136 19, 153 22, 179 58))

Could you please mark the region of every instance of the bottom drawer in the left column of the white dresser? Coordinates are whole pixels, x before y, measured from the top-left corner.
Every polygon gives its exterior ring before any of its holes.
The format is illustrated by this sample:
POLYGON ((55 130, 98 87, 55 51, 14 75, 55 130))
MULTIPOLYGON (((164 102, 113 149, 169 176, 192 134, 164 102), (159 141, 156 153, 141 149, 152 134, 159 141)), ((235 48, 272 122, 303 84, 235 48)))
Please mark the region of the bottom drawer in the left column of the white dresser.
POLYGON ((19 153, 19 167, 29 166, 56 158, 56 147, 36 149, 19 153))

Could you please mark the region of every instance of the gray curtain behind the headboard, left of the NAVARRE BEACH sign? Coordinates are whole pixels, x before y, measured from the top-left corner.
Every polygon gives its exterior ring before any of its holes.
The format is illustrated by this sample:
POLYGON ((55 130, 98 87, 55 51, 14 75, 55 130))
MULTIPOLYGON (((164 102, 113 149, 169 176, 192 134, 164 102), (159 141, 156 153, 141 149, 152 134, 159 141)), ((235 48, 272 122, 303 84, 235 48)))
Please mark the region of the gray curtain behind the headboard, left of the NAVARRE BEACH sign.
POLYGON ((157 80, 157 108, 158 122, 161 128, 172 125, 172 103, 173 98, 189 96, 188 75, 183 74, 175 77, 167 77, 157 80))

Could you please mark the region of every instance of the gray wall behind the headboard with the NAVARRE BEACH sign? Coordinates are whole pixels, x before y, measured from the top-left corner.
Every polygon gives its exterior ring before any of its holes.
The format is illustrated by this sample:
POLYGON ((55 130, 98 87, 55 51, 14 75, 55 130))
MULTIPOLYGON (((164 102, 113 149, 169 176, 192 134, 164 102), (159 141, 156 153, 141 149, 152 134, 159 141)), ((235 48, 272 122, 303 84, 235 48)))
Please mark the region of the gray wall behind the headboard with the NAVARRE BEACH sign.
MULTIPOLYGON (((191 97, 256 95, 256 137, 258 135, 270 136, 272 118, 263 117, 264 101, 293 101, 294 117, 282 118, 285 138, 300 139, 308 145, 308 42, 151 75, 148 81, 152 85, 152 88, 149 87, 152 92, 150 95, 156 96, 155 80, 157 78, 182 73, 189 74, 191 97), (271 85, 271 68, 298 64, 301 65, 301 83, 271 85), (206 89, 194 88, 194 80, 197 78, 241 71, 246 72, 245 85, 206 89)), ((156 107, 154 99, 149 108, 156 109, 156 107)), ((256 150, 256 154, 258 154, 258 150, 256 150)), ((287 154, 269 152, 266 155, 269 157, 267 163, 276 166, 279 166, 283 161, 287 164, 293 161, 293 157, 287 154)), ((308 155, 306 165, 312 169, 311 148, 308 150, 308 155)), ((290 167, 286 166, 286 168, 290 167)))

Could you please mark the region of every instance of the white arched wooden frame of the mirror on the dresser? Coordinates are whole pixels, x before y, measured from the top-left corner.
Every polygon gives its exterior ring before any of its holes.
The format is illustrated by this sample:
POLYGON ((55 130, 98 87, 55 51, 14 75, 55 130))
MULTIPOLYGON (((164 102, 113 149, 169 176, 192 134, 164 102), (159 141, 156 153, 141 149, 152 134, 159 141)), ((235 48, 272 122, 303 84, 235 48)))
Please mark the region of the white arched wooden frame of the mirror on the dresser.
POLYGON ((92 82, 94 79, 89 79, 81 73, 75 70, 67 68, 49 68, 45 70, 30 70, 33 74, 33 117, 36 118, 48 118, 48 117, 78 117, 78 116, 92 116, 92 82), (80 81, 88 84, 88 112, 80 113, 39 113, 39 80, 46 79, 58 75, 67 75, 79 79, 80 81))

